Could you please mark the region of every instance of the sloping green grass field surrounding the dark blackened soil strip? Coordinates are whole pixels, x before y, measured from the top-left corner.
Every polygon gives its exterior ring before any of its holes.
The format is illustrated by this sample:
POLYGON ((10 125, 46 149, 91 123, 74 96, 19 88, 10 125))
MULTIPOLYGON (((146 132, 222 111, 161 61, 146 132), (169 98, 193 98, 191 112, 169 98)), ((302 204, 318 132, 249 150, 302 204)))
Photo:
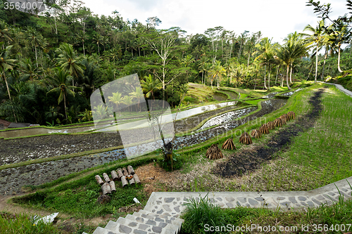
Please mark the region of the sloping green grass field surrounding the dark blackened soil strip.
MULTIPOLYGON (((222 143, 230 136, 234 137, 237 150, 250 146, 238 143, 239 136, 243 131, 250 132, 269 121, 273 121, 280 115, 289 111, 296 115, 304 115, 311 109, 308 98, 325 84, 315 84, 302 91, 294 93, 287 100, 283 108, 247 122, 233 131, 213 138, 200 145, 184 148, 184 168, 188 173, 195 168, 196 164, 206 164, 204 159, 206 150, 211 144, 216 143, 221 147, 222 143), (198 161, 197 161, 198 160, 198 161)), ((187 181, 179 190, 188 191, 254 191, 254 190, 312 190, 352 176, 352 98, 338 91, 334 86, 329 86, 327 92, 322 95, 324 109, 315 126, 295 136, 288 150, 277 152, 269 161, 257 171, 249 172, 244 177, 233 178, 224 182, 217 176, 212 176, 202 170, 196 174, 198 177, 187 181)), ((292 124, 282 126, 280 129, 292 124)), ((260 139, 252 139, 253 143, 265 145, 272 133, 262 136, 260 139)), ((226 155, 234 152, 222 151, 226 155)))

